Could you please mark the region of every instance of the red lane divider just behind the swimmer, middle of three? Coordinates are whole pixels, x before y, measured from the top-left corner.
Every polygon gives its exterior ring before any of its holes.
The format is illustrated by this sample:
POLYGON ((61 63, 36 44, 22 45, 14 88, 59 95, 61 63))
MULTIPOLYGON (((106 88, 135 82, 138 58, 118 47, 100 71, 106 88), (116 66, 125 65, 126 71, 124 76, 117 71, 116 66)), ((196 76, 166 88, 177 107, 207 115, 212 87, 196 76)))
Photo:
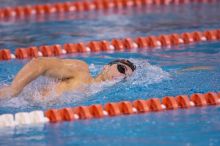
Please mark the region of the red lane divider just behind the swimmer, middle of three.
POLYGON ((63 54, 101 52, 101 51, 152 51, 159 48, 170 48, 181 44, 199 43, 204 41, 219 41, 220 29, 184 32, 181 34, 161 34, 159 36, 147 36, 113 39, 111 41, 100 40, 91 42, 67 43, 64 45, 33 46, 28 48, 17 48, 15 53, 9 49, 0 50, 0 61, 10 59, 28 59, 33 57, 59 56, 63 54))

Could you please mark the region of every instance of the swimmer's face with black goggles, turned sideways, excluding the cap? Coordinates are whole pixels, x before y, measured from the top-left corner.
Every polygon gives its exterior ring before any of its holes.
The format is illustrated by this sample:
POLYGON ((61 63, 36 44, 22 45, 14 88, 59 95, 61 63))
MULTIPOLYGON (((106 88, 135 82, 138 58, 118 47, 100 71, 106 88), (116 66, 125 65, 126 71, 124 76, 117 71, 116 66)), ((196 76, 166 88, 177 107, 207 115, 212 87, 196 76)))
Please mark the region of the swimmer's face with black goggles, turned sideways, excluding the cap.
POLYGON ((131 76, 132 73, 132 69, 123 63, 105 65, 102 71, 105 80, 122 79, 131 76))

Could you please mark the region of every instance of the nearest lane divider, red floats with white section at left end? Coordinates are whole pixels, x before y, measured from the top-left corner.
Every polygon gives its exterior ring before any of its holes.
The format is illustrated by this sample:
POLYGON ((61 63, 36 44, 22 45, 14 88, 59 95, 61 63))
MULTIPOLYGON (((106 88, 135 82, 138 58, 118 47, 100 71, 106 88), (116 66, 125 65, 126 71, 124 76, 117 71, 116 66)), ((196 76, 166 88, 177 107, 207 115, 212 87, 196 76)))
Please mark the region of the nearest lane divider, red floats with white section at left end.
POLYGON ((49 109, 0 115, 0 127, 13 127, 16 125, 39 124, 46 122, 62 122, 104 118, 138 113, 159 112, 166 110, 188 109, 191 107, 204 107, 220 105, 220 92, 195 93, 187 95, 165 96, 160 98, 139 99, 133 102, 110 102, 105 105, 94 104, 90 106, 77 106, 62 109, 49 109))

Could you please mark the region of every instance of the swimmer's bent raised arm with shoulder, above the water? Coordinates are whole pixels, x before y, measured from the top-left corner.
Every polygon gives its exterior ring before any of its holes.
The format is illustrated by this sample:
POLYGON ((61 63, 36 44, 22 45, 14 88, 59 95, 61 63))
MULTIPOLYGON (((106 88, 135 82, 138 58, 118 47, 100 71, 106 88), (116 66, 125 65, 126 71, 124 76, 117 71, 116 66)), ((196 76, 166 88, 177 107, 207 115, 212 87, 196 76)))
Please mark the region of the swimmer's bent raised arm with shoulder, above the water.
POLYGON ((27 84, 41 75, 60 80, 73 78, 74 71, 78 70, 76 64, 80 64, 78 66, 83 67, 83 62, 77 60, 58 58, 32 59, 18 72, 11 86, 0 89, 0 99, 17 96, 27 84))

